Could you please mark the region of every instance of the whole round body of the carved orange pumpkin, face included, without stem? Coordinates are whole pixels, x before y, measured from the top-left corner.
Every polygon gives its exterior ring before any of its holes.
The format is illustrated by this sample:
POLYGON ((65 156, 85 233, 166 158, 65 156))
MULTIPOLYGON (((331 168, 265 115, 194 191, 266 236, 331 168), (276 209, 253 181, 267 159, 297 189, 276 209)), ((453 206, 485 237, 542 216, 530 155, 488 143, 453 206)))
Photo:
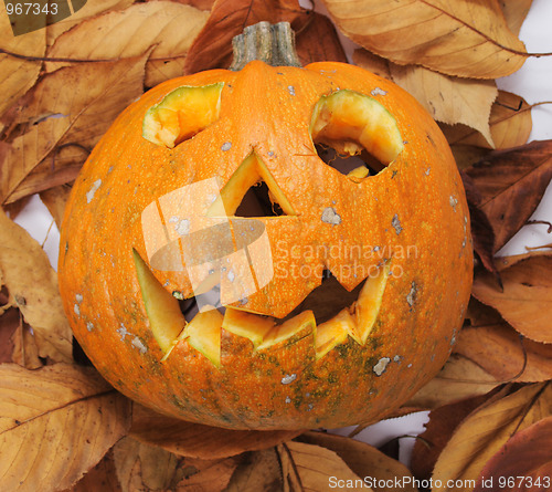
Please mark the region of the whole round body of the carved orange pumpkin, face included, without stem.
POLYGON ((62 227, 67 316, 97 369, 160 412, 235 429, 378 420, 461 326, 473 253, 455 161, 386 80, 245 62, 152 88, 96 146, 62 227), (363 160, 343 171, 323 148, 363 160))

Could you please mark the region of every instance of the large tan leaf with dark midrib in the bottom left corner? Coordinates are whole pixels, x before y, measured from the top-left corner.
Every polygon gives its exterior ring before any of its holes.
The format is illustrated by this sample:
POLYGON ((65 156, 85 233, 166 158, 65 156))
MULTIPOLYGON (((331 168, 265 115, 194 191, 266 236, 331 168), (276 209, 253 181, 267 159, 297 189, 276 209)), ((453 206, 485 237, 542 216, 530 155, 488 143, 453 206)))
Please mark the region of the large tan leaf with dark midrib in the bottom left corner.
POLYGON ((63 490, 127 431, 130 404, 94 369, 0 366, 0 490, 63 490))

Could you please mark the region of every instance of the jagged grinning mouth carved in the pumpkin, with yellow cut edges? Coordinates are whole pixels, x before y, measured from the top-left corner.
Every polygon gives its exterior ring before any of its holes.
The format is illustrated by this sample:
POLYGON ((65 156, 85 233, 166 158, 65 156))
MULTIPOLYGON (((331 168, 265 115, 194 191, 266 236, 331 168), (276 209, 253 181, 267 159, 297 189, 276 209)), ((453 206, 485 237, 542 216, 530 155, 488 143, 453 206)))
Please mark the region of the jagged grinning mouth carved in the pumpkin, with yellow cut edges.
POLYGON ((328 317, 328 311, 320 311, 320 306, 327 305, 328 295, 332 296, 336 292, 332 280, 329 281, 330 287, 328 282, 322 282, 319 287, 312 290, 304 303, 284 320, 247 313, 234 307, 226 307, 223 314, 212 305, 203 306, 193 317, 187 320, 178 299, 161 285, 136 251, 134 260, 150 328, 163 352, 163 359, 169 357, 177 344, 185 341, 216 367, 221 366, 223 329, 248 338, 255 350, 269 349, 308 329, 314 333, 317 359, 346 342, 348 337, 364 345, 378 318, 390 276, 388 263, 382 264, 375 274, 369 276, 352 292, 352 295, 358 295, 355 301, 340 308, 327 321, 323 320, 328 317))

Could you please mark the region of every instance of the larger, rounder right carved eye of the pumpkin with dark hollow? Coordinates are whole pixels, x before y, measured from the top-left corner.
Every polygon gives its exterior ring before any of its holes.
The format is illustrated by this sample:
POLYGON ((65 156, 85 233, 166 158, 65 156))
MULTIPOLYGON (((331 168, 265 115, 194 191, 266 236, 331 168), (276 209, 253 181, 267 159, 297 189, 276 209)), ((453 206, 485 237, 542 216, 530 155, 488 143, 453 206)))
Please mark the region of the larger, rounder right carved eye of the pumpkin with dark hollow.
POLYGON ((321 97, 309 129, 320 158, 352 180, 379 172, 403 149, 393 115, 373 97, 354 91, 321 97), (343 160, 350 156, 360 157, 358 165, 343 160))

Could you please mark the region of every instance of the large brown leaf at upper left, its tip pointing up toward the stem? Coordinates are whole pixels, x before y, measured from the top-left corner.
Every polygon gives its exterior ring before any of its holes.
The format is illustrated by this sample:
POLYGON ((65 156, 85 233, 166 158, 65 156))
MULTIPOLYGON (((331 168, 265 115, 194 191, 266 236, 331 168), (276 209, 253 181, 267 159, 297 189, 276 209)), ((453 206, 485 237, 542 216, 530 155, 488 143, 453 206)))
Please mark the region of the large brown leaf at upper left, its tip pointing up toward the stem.
MULTIPOLYGON (((56 146, 71 143, 92 148, 115 117, 144 92, 146 60, 147 54, 82 63, 45 75, 21 103, 17 123, 22 135, 9 137, 10 147, 0 150, 0 202, 73 180, 78 167, 67 175, 59 167, 52 169, 46 157, 56 146)), ((82 161, 85 158, 82 156, 82 161)))

